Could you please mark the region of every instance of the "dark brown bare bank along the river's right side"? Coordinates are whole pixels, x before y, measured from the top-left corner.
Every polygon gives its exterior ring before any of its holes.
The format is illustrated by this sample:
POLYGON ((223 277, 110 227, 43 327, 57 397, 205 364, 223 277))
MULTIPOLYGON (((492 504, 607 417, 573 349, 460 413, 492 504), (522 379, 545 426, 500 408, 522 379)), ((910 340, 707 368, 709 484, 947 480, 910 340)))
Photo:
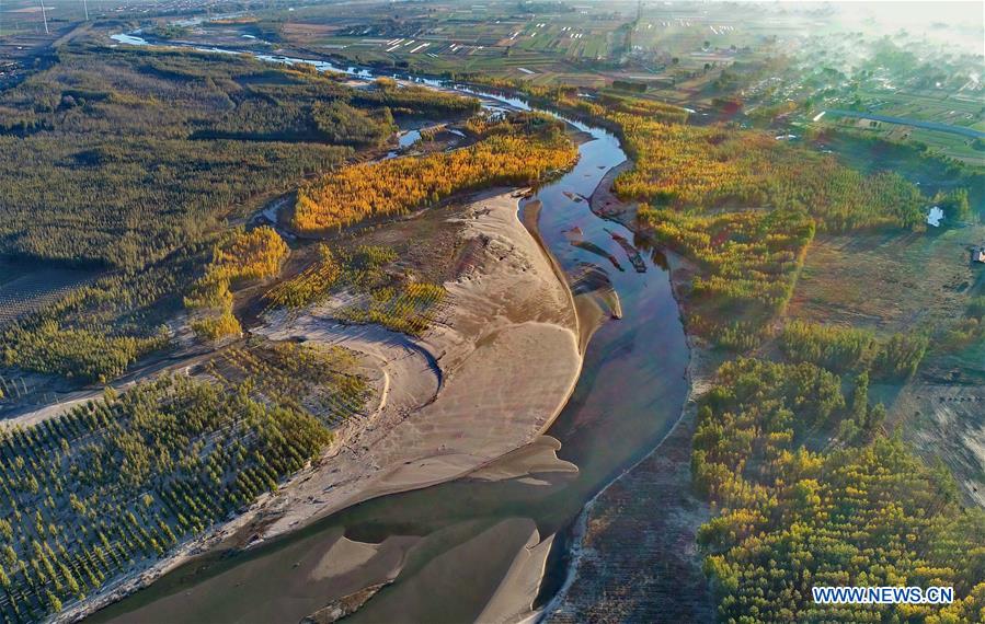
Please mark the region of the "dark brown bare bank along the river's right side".
MULTIPOLYGON (((592 194, 596 215, 637 231, 634 204, 621 201, 612 182, 633 163, 610 170, 592 194)), ((695 267, 665 254, 683 314, 682 292, 695 267)), ((658 444, 603 488, 575 522, 566 579, 542 609, 545 622, 575 623, 614 614, 625 621, 713 622, 714 605, 698 551, 698 528, 710 519, 692 490, 691 439, 698 401, 711 388, 718 358, 686 333, 687 400, 658 444), (655 510, 660 510, 658 513, 655 510)))

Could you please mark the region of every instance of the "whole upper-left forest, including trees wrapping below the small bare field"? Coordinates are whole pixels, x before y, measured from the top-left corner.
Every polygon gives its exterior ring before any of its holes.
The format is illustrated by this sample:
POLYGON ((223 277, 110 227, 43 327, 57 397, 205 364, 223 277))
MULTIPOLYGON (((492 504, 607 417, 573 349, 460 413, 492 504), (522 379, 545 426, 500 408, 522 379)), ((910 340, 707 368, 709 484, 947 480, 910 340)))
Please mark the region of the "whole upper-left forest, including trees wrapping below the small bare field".
MULTIPOLYGON (((162 325, 195 290, 227 219, 390 140, 394 113, 381 101, 404 116, 478 105, 394 89, 245 56, 60 48, 54 67, 0 94, 0 255, 108 271, 0 330, 4 374, 119 377, 169 345, 162 325)), ((221 309, 196 314, 203 336, 239 332, 221 309)))

